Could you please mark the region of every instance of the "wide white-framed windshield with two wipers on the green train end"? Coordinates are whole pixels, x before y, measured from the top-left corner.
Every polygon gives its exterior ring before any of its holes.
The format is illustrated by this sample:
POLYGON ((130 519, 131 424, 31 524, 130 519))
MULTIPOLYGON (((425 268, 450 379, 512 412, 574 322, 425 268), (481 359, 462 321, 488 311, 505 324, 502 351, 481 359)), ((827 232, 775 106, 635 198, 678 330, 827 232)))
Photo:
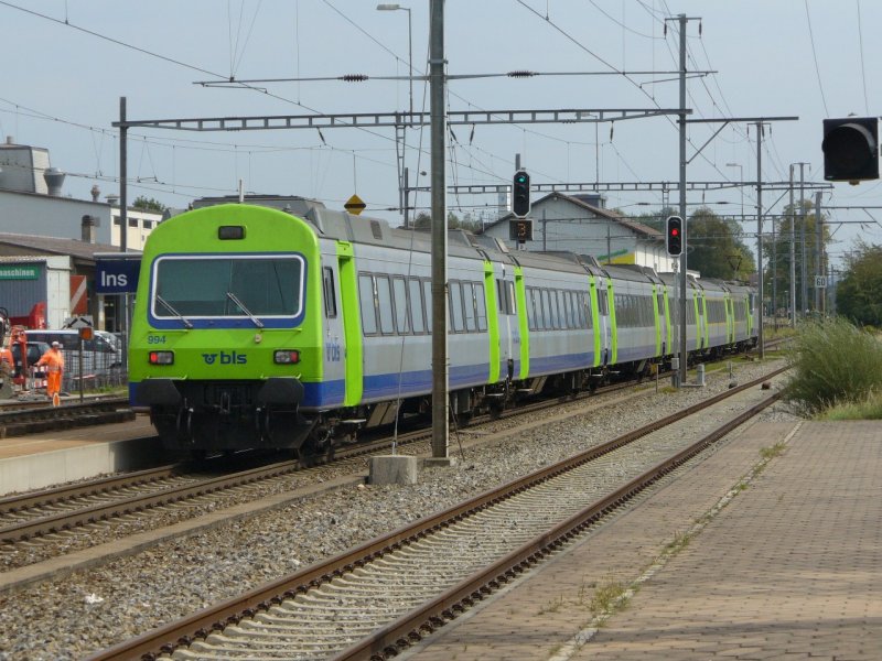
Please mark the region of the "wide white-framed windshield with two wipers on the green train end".
POLYGON ((153 316, 293 317, 303 304, 295 254, 166 256, 155 261, 153 316))

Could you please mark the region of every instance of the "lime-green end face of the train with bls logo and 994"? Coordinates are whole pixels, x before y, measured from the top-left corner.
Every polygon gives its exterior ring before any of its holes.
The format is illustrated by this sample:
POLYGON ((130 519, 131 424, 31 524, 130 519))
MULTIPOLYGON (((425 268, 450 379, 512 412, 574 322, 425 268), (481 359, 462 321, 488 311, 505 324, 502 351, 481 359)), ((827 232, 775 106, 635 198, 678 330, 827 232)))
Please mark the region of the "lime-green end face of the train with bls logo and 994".
POLYGON ((290 214, 218 205, 161 224, 144 247, 130 399, 169 448, 299 447, 304 383, 321 379, 314 229, 290 214))

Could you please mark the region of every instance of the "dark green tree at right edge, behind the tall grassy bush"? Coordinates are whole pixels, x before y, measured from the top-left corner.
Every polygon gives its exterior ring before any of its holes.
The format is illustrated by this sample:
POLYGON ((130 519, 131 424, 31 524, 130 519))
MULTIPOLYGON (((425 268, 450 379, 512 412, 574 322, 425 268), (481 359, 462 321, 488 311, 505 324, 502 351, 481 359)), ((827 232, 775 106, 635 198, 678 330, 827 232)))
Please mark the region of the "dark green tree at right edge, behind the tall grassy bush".
POLYGON ((836 306, 858 324, 882 327, 882 246, 859 242, 836 288, 836 306))

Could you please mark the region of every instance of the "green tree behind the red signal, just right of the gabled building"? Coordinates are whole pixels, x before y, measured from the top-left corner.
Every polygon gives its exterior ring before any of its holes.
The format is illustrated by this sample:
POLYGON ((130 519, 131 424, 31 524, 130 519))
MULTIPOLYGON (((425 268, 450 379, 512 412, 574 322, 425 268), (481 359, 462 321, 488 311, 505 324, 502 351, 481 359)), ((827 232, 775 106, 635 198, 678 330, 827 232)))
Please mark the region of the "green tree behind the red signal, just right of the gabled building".
POLYGON ((687 266, 702 278, 744 280, 756 270, 753 251, 742 240, 735 220, 707 207, 696 210, 686 226, 687 266))

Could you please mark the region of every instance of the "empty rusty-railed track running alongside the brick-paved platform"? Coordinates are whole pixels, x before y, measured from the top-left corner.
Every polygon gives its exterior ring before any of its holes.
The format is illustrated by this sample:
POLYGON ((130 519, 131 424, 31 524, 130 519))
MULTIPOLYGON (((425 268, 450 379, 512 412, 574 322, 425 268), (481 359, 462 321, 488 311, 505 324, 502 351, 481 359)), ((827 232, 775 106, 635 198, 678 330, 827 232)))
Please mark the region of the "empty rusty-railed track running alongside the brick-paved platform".
MULTIPOLYGON (((783 371, 783 370, 778 370, 783 371)), ((777 373, 777 372, 775 372, 777 373)), ((675 470, 777 394, 667 453, 645 438, 754 388, 745 383, 639 430, 493 489, 442 513, 93 657, 385 659, 557 552, 675 470), (646 469, 623 486, 615 466, 646 469), (669 454, 662 458, 662 454, 669 454), (606 467, 606 469, 604 468, 606 467), (613 469, 607 469, 612 467, 613 469), (591 503, 585 507, 585 503, 591 503)), ((759 393, 760 391, 754 391, 759 393)), ((751 397, 754 397, 751 393, 751 397)), ((754 397, 754 399, 759 399, 754 397)))

